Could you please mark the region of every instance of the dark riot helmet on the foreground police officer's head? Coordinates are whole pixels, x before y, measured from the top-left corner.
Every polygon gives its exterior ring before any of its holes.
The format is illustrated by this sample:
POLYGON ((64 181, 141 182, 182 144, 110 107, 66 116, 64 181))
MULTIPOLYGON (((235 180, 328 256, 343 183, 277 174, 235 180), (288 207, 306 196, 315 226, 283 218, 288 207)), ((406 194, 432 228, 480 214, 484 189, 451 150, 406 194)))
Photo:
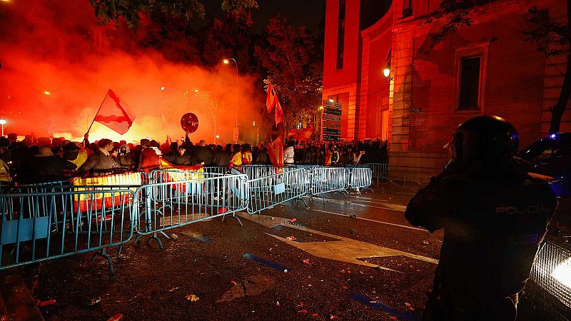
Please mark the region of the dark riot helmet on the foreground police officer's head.
POLYGON ((460 124, 454 133, 455 161, 499 161, 517 152, 519 138, 515 127, 504 118, 477 116, 460 124))

